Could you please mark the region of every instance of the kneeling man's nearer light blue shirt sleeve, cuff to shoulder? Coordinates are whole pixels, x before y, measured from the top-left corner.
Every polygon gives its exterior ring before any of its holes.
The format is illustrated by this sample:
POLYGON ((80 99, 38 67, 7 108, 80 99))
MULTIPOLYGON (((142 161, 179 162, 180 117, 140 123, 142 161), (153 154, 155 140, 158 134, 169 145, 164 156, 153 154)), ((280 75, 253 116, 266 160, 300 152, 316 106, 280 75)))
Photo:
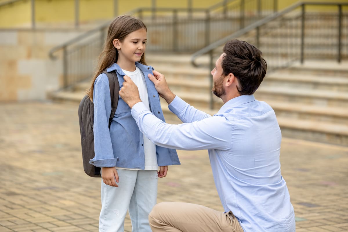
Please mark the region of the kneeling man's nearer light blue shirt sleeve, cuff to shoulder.
MULTIPOLYGON (((226 150, 230 147, 231 136, 226 135, 230 135, 231 130, 224 117, 203 117, 203 120, 191 123, 170 125, 156 118, 142 102, 132 107, 132 116, 140 131, 159 146, 179 150, 226 150)), ((187 117, 194 118, 192 115, 187 117)))

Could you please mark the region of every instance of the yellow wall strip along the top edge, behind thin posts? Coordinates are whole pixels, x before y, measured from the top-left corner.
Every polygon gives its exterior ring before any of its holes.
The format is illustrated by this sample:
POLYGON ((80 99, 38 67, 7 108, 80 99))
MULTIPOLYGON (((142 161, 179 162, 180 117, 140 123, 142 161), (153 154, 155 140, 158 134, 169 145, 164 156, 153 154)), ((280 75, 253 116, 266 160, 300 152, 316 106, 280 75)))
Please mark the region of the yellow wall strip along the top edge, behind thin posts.
MULTIPOLYGON (((0 0, 0 3, 7 0, 0 0)), ((191 0, 193 8, 207 8, 222 0, 191 0)), ((278 0, 278 10, 292 5, 298 0, 278 0)), ((330 0, 312 0, 330 2, 330 0)), ((339 0, 348 2, 348 0, 339 0)), ((136 8, 151 7, 153 0, 118 0, 118 14, 125 14, 136 8)), ((188 7, 188 0, 155 0, 157 7, 188 7)), ((114 0, 79 0, 79 21, 95 21, 98 19, 111 19, 114 17, 114 0)), ((314 9, 315 7, 308 7, 314 9)), ((337 8, 337 7, 336 7, 337 8)), ((321 7, 323 10, 335 8, 321 7)), ((145 14, 149 14, 145 13, 145 14)), ((74 23, 75 0, 35 0, 35 22, 44 23, 74 23)), ((22 0, 0 7, 0 28, 20 27, 31 25, 31 1, 22 0)))

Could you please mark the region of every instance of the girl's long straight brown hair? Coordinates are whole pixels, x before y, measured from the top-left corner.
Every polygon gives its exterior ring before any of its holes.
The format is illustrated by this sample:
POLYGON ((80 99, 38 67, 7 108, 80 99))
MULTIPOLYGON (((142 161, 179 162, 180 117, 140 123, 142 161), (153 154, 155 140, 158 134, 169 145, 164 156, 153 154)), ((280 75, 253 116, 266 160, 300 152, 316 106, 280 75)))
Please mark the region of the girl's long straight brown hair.
MULTIPOLYGON (((91 101, 93 101, 95 79, 97 79, 98 75, 100 75, 107 67, 117 62, 118 52, 113 46, 112 41, 118 39, 122 42, 129 33, 141 28, 144 28, 147 31, 145 24, 140 19, 129 15, 118 16, 111 22, 103 51, 98 57, 97 70, 92 79, 90 88, 86 91, 86 95, 89 95, 91 101)), ((145 53, 141 56, 139 63, 147 65, 145 62, 145 53)))

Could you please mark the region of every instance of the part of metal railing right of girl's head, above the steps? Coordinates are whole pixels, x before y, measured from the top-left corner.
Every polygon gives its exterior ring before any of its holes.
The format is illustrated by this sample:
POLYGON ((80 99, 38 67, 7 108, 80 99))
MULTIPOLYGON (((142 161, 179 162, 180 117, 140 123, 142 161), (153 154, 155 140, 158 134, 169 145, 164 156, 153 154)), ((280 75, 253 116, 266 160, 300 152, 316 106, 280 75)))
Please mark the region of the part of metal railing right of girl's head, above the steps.
POLYGON ((277 11, 277 0, 224 0, 209 8, 140 8, 148 50, 194 52, 277 11), (155 39, 152 39, 155 38, 155 39))

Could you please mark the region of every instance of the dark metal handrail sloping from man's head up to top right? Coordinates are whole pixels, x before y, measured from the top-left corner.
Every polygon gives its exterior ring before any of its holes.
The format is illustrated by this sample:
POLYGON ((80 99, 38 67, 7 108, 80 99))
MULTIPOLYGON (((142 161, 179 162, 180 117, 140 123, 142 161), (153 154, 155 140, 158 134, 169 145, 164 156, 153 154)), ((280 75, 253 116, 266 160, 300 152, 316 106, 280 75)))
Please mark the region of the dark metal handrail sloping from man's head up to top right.
POLYGON ((193 66, 195 67, 199 67, 200 65, 196 64, 195 60, 202 55, 205 55, 207 53, 210 53, 211 51, 213 51, 214 49, 216 49, 217 47, 222 46, 223 44, 225 44, 227 41, 229 41, 230 39, 239 37, 251 30, 256 29, 257 27, 260 27, 280 16, 283 16, 287 13, 289 13, 290 11, 292 11, 293 9, 296 9, 300 6, 304 6, 304 5, 317 5, 317 6, 339 6, 339 5, 343 5, 343 6, 348 6, 348 3, 344 3, 344 2, 297 2, 294 3, 293 5, 285 8, 282 11, 278 11, 276 13, 273 13, 272 15, 266 16, 263 19, 260 19, 259 21, 250 24, 249 26, 244 27, 243 29, 232 33, 231 35, 228 35, 216 42, 211 43, 210 45, 200 49, 199 51, 195 52, 192 56, 191 56, 191 63, 193 66))

